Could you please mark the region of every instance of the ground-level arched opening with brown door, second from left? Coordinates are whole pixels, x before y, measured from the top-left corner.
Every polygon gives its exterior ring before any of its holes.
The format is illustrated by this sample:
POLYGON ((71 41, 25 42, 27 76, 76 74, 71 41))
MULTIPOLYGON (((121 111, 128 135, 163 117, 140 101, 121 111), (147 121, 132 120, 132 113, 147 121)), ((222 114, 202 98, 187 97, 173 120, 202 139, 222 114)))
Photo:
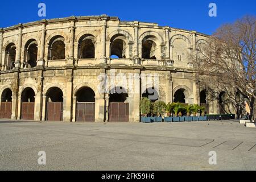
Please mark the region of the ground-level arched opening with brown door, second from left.
POLYGON ((21 119, 33 120, 35 107, 35 92, 32 88, 26 88, 21 95, 21 119))

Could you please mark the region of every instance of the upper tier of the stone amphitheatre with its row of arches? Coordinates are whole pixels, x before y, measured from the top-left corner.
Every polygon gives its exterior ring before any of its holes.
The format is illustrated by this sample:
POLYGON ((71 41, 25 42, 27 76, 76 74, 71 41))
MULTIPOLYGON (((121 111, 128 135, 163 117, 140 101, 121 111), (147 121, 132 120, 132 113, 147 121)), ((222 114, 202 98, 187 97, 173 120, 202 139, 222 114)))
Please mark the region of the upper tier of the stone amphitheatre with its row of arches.
POLYGON ((0 29, 0 69, 125 66, 192 71, 190 55, 207 37, 107 15, 43 19, 0 29))

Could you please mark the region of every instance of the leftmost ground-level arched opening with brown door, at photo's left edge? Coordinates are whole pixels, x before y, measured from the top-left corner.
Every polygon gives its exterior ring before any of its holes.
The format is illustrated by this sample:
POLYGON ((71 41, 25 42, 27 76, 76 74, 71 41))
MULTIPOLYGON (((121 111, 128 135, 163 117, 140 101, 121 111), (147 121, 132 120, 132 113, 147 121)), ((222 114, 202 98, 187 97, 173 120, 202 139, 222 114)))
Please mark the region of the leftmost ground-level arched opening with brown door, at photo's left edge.
POLYGON ((11 89, 7 88, 3 90, 2 96, 1 96, 1 108, 0 108, 1 119, 11 119, 12 100, 13 100, 13 92, 11 92, 11 89))

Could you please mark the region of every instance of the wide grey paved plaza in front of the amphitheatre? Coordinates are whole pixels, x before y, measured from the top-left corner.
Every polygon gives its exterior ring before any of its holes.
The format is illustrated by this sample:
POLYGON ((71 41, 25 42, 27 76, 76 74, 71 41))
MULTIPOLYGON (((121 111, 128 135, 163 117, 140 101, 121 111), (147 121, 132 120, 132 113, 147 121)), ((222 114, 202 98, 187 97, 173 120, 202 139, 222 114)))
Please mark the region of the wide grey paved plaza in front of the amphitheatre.
POLYGON ((0 121, 0 170, 255 170, 255 144, 256 129, 238 121, 0 121))

